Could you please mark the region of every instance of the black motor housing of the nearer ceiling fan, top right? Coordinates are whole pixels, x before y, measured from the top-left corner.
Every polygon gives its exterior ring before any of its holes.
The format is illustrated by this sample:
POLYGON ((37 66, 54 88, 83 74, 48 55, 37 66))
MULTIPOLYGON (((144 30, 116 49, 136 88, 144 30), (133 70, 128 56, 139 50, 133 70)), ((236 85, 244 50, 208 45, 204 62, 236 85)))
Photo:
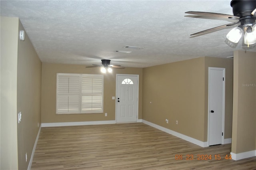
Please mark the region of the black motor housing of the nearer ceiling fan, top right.
POLYGON ((255 22, 255 16, 251 14, 256 8, 255 0, 232 0, 230 5, 233 8, 234 16, 240 18, 242 26, 255 22))

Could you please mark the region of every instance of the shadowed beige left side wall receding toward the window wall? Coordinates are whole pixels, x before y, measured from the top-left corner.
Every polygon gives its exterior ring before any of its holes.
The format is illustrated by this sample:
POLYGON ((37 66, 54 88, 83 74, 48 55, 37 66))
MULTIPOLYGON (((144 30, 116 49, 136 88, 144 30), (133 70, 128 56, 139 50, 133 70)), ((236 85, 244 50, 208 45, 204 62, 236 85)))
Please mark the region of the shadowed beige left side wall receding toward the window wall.
MULTIPOLYGON (((21 22, 18 30, 24 30, 21 22)), ((22 113, 18 124, 19 169, 28 168, 41 125, 41 69, 42 63, 25 31, 25 41, 18 40, 17 113, 22 113)))

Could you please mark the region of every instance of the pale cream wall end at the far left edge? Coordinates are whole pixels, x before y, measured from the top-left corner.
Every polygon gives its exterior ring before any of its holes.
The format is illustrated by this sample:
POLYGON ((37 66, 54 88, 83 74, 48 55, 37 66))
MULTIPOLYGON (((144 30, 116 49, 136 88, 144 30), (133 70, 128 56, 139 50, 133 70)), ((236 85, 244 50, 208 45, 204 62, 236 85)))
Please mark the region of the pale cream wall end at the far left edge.
POLYGON ((1 25, 1 170, 18 169, 17 51, 18 18, 0 17, 1 25))

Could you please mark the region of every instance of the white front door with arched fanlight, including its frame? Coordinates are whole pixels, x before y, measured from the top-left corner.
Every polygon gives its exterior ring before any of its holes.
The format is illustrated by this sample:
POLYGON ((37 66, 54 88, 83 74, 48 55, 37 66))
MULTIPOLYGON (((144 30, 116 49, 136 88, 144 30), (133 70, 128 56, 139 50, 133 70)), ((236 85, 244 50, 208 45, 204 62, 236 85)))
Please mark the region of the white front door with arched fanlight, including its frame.
POLYGON ((138 75, 116 75, 116 123, 137 122, 138 75))

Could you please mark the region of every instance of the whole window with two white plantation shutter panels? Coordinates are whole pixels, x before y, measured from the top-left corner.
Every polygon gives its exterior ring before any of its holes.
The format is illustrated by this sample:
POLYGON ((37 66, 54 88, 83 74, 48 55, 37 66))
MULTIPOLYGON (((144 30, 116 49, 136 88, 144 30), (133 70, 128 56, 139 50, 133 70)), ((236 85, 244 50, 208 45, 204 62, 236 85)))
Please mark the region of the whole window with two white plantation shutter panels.
POLYGON ((57 73, 56 113, 103 113, 103 75, 57 73))

